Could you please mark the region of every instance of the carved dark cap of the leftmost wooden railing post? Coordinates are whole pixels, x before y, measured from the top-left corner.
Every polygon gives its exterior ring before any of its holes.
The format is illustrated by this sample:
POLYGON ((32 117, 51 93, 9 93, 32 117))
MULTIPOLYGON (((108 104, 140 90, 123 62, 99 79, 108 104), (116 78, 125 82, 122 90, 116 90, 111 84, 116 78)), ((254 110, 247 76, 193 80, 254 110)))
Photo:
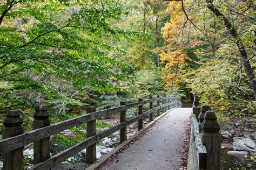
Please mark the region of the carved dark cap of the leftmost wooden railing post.
POLYGON ((4 119, 5 127, 18 127, 23 123, 23 119, 20 117, 20 114, 17 110, 11 110, 7 113, 4 119))

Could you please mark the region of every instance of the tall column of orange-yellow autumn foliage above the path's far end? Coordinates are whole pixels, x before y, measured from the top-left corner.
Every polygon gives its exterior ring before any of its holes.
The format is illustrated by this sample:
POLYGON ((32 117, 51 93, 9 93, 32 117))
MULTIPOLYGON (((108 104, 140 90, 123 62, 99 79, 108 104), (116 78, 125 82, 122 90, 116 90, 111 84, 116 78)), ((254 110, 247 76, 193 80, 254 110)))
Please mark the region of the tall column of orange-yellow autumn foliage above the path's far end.
POLYGON ((182 52, 183 43, 178 39, 185 22, 185 15, 181 9, 181 2, 170 2, 167 12, 171 19, 162 29, 163 38, 168 45, 167 50, 160 52, 161 63, 165 63, 164 68, 161 69, 161 75, 165 87, 172 86, 174 90, 177 90, 179 83, 184 82, 182 75, 185 71, 182 68, 187 65, 186 60, 190 60, 188 55, 182 52), (173 48, 176 45, 179 45, 178 49, 173 48))

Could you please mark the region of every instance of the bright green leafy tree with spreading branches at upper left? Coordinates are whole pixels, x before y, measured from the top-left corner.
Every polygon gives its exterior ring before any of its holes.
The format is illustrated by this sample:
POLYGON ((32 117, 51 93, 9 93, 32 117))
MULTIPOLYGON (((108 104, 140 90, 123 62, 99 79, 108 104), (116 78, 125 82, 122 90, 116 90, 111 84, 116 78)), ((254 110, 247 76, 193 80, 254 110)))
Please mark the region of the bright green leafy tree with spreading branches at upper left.
POLYGON ((104 9, 97 1, 33 3, 14 0, 1 5, 2 107, 24 105, 25 101, 18 97, 21 91, 36 91, 46 98, 75 102, 72 92, 65 96, 51 85, 51 76, 71 82, 75 88, 73 93, 86 88, 114 91, 119 87, 113 86, 112 80, 129 79, 127 73, 131 67, 109 55, 111 51, 123 53, 124 50, 109 42, 138 33, 111 26, 109 19, 120 19, 126 12, 111 1, 105 2, 104 9))

